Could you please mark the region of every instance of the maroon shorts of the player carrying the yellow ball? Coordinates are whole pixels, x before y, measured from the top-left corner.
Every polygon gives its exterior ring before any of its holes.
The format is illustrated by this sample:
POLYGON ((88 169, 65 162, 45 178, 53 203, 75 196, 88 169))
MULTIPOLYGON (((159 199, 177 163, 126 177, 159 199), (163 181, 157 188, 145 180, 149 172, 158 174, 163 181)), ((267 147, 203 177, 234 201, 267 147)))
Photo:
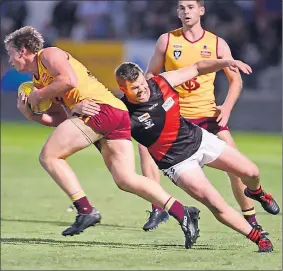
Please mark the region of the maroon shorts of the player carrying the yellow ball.
MULTIPOLYGON (((99 104, 100 112, 92 117, 79 116, 85 123, 104 138, 131 140, 129 112, 108 104, 99 104)), ((74 113, 78 116, 78 114, 74 113)))

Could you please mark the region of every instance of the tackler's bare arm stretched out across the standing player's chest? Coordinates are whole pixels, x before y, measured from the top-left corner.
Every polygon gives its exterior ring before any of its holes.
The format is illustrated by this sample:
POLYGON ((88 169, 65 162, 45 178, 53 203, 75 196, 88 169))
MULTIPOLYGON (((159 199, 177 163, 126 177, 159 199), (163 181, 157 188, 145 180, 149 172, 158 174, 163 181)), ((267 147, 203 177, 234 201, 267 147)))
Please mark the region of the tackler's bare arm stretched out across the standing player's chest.
POLYGON ((252 72, 252 69, 249 65, 239 60, 209 59, 198 61, 191 66, 187 66, 175 71, 164 72, 161 75, 169 82, 171 86, 176 87, 198 75, 217 72, 228 67, 233 73, 237 73, 237 69, 240 69, 246 74, 250 74, 252 72))

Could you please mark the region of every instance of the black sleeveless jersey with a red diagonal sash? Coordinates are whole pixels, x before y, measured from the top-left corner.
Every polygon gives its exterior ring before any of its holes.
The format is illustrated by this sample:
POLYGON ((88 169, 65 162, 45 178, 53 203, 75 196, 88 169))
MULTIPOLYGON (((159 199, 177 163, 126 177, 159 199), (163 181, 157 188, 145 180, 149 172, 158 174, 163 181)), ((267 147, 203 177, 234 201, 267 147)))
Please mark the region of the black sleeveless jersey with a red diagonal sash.
POLYGON ((132 137, 147 147, 159 169, 167 169, 192 156, 202 131, 180 116, 179 94, 162 76, 147 81, 150 98, 133 104, 124 96, 132 123, 132 137))

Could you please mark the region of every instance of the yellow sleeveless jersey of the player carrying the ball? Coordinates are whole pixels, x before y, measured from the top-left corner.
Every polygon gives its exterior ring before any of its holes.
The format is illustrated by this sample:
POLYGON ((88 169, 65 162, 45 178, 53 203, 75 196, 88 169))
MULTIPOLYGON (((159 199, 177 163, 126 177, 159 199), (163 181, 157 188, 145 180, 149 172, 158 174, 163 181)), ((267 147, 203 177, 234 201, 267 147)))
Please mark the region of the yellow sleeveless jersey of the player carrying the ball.
MULTIPOLYGON (((43 50, 36 55, 39 77, 33 76, 33 83, 37 88, 45 87, 55 79, 40 60, 43 50)), ((72 110, 75 104, 86 98, 93 98, 97 103, 108 104, 121 110, 127 110, 126 106, 116 98, 103 84, 101 84, 78 60, 66 52, 72 68, 78 78, 78 86, 52 99, 72 110)))

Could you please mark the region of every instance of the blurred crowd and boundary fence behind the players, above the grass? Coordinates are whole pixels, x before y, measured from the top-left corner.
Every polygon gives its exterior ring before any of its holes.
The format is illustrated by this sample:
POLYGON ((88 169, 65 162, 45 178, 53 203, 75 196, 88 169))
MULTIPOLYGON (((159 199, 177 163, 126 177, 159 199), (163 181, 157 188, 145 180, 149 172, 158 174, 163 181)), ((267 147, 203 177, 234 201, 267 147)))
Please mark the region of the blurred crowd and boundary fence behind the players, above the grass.
MULTIPOLYGON (((81 60, 112 91, 115 67, 122 61, 145 68, 155 42, 180 27, 175 0, 167 1, 4 1, 1 4, 1 116, 23 120, 16 108, 19 84, 31 79, 8 64, 5 35, 25 25, 43 33, 45 46, 58 46, 81 60)), ((234 58, 254 73, 243 76, 244 89, 229 125, 234 130, 281 132, 282 1, 205 1, 203 27, 230 45, 234 58)), ((221 103, 227 78, 217 74, 215 94, 221 103)))

